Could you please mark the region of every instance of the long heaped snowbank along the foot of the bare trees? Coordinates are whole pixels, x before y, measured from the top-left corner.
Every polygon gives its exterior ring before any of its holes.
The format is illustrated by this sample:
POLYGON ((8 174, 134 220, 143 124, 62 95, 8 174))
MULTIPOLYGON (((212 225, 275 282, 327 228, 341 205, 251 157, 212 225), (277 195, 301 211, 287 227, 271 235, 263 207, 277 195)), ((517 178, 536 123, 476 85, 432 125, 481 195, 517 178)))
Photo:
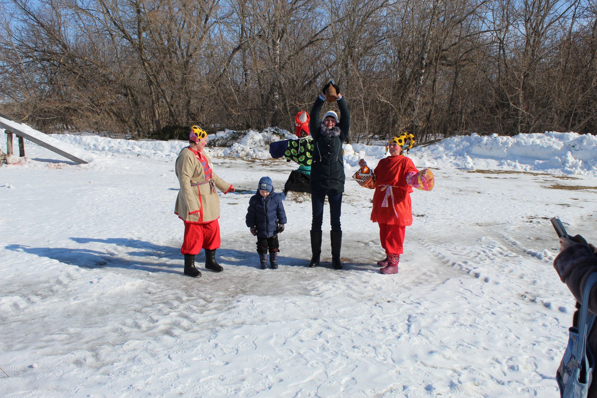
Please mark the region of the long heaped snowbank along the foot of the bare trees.
MULTIPOLYGON (((219 131, 208 136, 210 156, 231 158, 267 159, 269 143, 284 138, 296 139, 296 135, 278 128, 259 132, 254 129, 239 132, 219 131), (277 133, 277 134, 276 134, 277 133), (227 147, 210 146, 211 142, 238 137, 227 147)), ((117 140, 95 135, 55 134, 55 138, 82 147, 96 155, 126 155, 174 161, 187 141, 117 140)), ((417 146, 408 156, 422 167, 442 168, 447 165, 460 169, 506 169, 563 173, 571 175, 597 175, 597 137, 576 132, 545 132, 544 134, 519 134, 501 137, 497 134, 478 134, 445 138, 435 144, 417 146)), ((376 166, 387 154, 383 145, 344 144, 345 168, 354 169, 364 158, 370 166, 376 166)))

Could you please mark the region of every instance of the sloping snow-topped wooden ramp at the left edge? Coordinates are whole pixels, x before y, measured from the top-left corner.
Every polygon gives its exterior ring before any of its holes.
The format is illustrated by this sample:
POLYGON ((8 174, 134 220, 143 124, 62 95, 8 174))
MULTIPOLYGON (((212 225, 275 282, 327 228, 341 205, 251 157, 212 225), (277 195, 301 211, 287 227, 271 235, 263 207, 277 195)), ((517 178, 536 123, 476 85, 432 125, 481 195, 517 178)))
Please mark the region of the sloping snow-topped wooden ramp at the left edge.
POLYGON ((64 158, 70 159, 75 163, 84 164, 93 161, 93 156, 84 149, 50 137, 50 135, 29 127, 26 124, 19 123, 6 115, 2 115, 2 113, 0 113, 0 128, 5 128, 7 132, 12 132, 19 135, 19 137, 26 138, 32 143, 56 152, 60 156, 64 156, 64 158))

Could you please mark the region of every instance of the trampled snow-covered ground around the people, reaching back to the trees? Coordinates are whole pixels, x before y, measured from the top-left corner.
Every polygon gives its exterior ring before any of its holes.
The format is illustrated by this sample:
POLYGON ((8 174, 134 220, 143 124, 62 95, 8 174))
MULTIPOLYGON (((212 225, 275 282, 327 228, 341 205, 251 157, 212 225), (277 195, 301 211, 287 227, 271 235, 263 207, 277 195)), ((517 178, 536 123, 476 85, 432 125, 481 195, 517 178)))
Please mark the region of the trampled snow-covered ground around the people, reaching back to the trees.
POLYGON ((173 214, 184 143, 58 137, 96 159, 27 144, 30 159, 0 167, 0 396, 559 396, 574 302, 552 268, 549 218, 597 241, 596 137, 411 150, 436 184, 411 195, 401 271, 386 276, 373 192, 349 177, 383 147, 356 144, 344 157, 344 270, 331 269, 327 233, 324 264, 306 267, 310 199, 295 195, 280 268, 259 269, 248 198, 263 175, 281 190, 296 165, 268 159, 255 133, 212 149, 238 192, 220 193, 224 272, 198 279, 182 274, 173 214))

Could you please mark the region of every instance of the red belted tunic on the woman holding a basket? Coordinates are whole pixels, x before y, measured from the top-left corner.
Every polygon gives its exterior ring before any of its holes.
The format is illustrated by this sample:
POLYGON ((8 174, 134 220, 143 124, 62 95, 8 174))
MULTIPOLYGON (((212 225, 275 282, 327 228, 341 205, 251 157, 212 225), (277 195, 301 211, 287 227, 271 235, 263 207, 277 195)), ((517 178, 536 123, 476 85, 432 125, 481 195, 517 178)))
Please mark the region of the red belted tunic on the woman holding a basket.
POLYGON ((397 224, 399 226, 410 226, 413 224, 413 208, 411 207, 410 193, 413 188, 407 184, 408 172, 417 172, 413 161, 406 156, 390 156, 377 163, 374 172, 376 175, 376 189, 373 195, 373 211, 371 221, 381 224, 397 224), (383 187, 390 185, 387 189, 392 190, 394 197, 387 196, 387 207, 382 207, 386 190, 383 187), (396 217, 398 214, 398 217, 396 217))

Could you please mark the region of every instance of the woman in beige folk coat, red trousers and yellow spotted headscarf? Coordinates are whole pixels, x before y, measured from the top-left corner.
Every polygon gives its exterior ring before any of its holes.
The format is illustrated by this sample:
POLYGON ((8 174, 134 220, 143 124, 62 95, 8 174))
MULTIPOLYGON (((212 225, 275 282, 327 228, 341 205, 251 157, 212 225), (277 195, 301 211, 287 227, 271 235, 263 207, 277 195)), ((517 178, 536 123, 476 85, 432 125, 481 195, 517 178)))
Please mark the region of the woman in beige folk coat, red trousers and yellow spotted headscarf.
POLYGON ((220 247, 220 199, 216 187, 224 194, 234 192, 232 184, 216 175, 211 159, 203 148, 207 132, 193 126, 189 134, 189 146, 176 158, 176 177, 180 191, 174 205, 174 214, 184 221, 184 240, 180 248, 184 255, 184 274, 197 277, 201 272, 195 268, 195 255, 205 250, 205 268, 220 272, 223 268, 216 262, 216 249, 220 247))

